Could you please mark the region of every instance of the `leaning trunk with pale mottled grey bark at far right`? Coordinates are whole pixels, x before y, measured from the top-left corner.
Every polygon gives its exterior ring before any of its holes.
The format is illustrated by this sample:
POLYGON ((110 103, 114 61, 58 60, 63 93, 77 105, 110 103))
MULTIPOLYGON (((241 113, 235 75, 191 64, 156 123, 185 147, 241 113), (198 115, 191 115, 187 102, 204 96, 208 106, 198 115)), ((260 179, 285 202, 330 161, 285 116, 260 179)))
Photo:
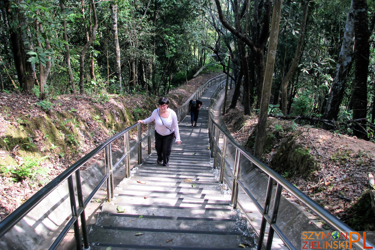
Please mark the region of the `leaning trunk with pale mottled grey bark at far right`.
MULTIPOLYGON (((342 97, 344 95, 344 87, 347 81, 347 75, 350 71, 353 61, 353 47, 354 11, 352 1, 348 12, 347 22, 345 24, 341 51, 337 60, 335 78, 333 79, 332 86, 328 94, 326 108, 323 114, 323 118, 326 120, 337 120, 342 97)), ((323 123, 322 129, 330 129, 330 127, 327 124, 323 123)))

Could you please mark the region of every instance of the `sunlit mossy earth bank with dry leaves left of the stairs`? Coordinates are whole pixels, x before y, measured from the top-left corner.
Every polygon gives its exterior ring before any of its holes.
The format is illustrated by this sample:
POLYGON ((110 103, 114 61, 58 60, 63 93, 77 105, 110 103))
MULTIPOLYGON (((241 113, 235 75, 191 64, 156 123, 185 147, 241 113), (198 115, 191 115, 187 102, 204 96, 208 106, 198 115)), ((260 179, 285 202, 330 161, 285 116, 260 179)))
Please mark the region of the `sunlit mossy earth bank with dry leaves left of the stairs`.
MULTIPOLYGON (((171 108, 219 74, 199 75, 171 90, 171 108)), ((30 94, 0 93, 0 218, 106 139, 151 114, 157 99, 97 93, 40 101, 30 94)))

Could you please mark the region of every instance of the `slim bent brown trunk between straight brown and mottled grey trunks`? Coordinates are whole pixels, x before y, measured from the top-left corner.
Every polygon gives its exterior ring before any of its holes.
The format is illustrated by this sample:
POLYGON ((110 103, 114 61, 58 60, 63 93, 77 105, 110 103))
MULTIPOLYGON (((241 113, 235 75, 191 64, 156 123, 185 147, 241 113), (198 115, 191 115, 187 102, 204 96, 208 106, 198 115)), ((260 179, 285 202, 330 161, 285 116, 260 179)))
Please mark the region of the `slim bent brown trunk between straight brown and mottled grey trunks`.
POLYGON ((296 71, 297 62, 301 56, 301 48, 302 48, 302 43, 303 43, 303 39, 305 36, 306 21, 307 21, 308 12, 309 12, 309 2, 310 0, 305 0, 305 6, 303 9, 303 18, 302 18, 302 23, 301 23, 300 36, 298 37, 298 42, 297 42, 296 54, 294 55, 294 58, 288 70, 288 73, 284 76, 281 82, 281 112, 284 115, 287 115, 287 109, 288 109, 288 82, 290 81, 294 72, 296 71))

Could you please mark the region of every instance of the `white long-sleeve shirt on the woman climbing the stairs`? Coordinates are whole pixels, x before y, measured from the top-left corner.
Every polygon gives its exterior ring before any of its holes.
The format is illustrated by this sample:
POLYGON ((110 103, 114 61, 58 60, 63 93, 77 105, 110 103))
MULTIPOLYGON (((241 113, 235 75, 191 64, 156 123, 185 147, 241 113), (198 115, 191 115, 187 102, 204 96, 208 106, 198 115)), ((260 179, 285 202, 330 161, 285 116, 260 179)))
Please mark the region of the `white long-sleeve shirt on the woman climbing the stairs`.
POLYGON ((159 109, 155 109, 151 116, 142 120, 144 124, 150 123, 151 121, 155 121, 155 130, 160 135, 169 135, 171 132, 174 131, 174 135, 176 136, 176 142, 181 141, 180 139, 180 130, 178 130, 178 123, 177 123, 177 115, 172 109, 168 108, 169 116, 168 118, 162 118, 159 115, 159 109), (163 125, 164 123, 164 125, 163 125), (168 128, 169 129, 168 129, 168 128))

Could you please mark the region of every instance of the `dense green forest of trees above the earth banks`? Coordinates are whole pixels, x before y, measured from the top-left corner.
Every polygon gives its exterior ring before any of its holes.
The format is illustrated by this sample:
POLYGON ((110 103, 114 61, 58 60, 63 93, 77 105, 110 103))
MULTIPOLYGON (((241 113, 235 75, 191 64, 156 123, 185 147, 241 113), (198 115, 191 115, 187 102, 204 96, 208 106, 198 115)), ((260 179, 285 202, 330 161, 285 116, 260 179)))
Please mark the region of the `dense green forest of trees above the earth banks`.
POLYGON ((374 142, 374 9, 367 0, 0 0, 0 95, 31 95, 47 110, 67 96, 152 99, 219 65, 235 86, 229 109, 241 103, 259 117, 258 158, 267 116, 374 142))

